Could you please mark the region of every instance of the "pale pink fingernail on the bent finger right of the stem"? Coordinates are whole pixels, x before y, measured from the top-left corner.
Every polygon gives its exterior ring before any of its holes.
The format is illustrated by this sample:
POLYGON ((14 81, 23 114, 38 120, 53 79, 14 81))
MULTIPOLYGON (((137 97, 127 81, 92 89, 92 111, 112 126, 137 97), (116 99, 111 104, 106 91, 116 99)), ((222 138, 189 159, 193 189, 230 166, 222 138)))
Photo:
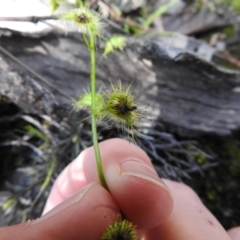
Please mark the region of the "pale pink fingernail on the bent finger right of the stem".
POLYGON ((164 182, 159 178, 157 172, 152 167, 138 159, 128 159, 123 162, 121 175, 137 177, 168 189, 164 182))

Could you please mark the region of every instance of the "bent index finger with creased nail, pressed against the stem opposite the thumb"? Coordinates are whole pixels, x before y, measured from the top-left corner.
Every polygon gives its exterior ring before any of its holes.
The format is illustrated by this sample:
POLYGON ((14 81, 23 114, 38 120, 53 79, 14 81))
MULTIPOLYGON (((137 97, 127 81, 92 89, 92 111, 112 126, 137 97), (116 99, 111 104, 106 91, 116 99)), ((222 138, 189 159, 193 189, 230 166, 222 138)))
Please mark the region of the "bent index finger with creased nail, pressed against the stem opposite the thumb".
MULTIPOLYGON (((140 229, 166 221, 173 199, 146 153, 122 139, 101 142, 99 147, 108 189, 124 216, 140 229)), ((80 159, 82 164, 73 164, 84 169, 86 181, 97 181, 93 148, 86 149, 80 159)))

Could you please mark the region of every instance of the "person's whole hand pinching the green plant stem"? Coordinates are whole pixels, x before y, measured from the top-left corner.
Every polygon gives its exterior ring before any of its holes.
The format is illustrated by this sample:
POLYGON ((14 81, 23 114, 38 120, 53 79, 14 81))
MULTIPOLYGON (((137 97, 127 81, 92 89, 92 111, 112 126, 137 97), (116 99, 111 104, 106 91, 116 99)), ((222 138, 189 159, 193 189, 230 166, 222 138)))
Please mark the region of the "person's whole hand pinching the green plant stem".
POLYGON ((120 209, 144 240, 239 240, 226 232, 184 184, 162 180, 148 156, 121 139, 100 144, 109 191, 98 181, 93 148, 83 151, 56 180, 41 218, 0 228, 0 239, 101 239, 120 209))

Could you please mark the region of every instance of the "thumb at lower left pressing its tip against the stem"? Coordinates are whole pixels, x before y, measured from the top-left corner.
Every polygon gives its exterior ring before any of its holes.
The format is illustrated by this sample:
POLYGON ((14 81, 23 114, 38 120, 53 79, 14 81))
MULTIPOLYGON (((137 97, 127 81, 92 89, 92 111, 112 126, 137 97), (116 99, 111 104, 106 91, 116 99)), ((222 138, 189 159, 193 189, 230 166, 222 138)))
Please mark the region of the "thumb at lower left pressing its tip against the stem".
POLYGON ((118 217, 109 192, 93 182, 35 221, 0 228, 0 236, 5 240, 101 239, 118 217))

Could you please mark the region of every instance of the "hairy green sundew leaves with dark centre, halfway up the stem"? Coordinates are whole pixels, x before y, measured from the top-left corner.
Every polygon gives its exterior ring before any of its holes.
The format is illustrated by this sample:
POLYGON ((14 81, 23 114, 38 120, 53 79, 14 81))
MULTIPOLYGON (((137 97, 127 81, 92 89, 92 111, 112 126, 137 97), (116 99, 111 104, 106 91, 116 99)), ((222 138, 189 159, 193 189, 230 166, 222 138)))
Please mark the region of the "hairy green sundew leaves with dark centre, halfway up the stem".
POLYGON ((138 109, 130 86, 125 87, 119 82, 116 86, 111 83, 111 88, 103 94, 95 94, 96 109, 91 109, 91 94, 86 93, 75 103, 75 109, 82 107, 92 110, 92 113, 100 120, 114 121, 122 130, 128 128, 133 134, 139 134, 136 130, 143 113, 138 109))

